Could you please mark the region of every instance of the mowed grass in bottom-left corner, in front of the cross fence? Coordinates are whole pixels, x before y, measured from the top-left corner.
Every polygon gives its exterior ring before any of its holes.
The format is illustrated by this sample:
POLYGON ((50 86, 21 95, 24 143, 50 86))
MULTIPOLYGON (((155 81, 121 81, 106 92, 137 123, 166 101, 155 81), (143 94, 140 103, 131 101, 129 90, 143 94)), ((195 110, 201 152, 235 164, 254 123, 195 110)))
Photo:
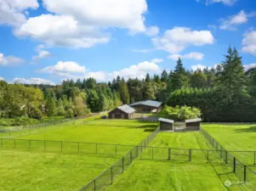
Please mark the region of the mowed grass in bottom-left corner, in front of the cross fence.
POLYGON ((0 150, 0 190, 79 190, 117 159, 0 150))

